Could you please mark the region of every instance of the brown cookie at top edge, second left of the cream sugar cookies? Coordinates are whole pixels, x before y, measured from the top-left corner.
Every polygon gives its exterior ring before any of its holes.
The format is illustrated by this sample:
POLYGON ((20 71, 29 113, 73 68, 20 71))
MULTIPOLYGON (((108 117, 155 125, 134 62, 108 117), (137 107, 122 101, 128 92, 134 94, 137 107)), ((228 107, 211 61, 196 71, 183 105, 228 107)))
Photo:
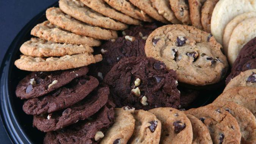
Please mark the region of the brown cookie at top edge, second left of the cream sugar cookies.
POLYGON ((193 27, 203 30, 201 23, 201 8, 206 0, 188 0, 190 20, 193 27))

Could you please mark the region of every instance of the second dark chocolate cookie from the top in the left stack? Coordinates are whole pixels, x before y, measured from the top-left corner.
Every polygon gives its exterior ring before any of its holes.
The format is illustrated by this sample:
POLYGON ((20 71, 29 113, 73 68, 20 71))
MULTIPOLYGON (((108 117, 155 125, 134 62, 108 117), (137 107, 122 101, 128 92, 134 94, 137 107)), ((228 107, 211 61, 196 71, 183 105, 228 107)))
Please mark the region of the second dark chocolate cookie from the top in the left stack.
POLYGON ((44 97, 25 101, 23 111, 26 114, 39 115, 62 110, 84 99, 98 85, 99 81, 91 76, 76 78, 44 97))

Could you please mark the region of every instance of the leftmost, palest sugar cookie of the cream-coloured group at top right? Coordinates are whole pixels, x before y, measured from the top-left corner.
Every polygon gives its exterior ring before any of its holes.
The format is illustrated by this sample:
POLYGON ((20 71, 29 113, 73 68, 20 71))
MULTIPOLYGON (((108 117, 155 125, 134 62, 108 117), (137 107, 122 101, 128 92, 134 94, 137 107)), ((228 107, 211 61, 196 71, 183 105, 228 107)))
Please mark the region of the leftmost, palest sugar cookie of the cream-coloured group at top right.
POLYGON ((256 0, 220 0, 212 12, 212 35, 223 44, 226 25, 237 15, 250 11, 256 11, 256 0))

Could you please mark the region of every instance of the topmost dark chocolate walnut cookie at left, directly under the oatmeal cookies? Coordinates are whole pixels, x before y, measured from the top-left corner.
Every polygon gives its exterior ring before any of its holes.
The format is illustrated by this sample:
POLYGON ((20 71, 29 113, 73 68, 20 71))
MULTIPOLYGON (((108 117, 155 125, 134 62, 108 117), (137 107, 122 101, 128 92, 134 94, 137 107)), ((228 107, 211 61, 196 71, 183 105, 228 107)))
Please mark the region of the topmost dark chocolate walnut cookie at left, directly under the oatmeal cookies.
POLYGON ((87 73, 86 66, 54 72, 32 72, 18 83, 15 93, 20 99, 40 97, 87 73))

